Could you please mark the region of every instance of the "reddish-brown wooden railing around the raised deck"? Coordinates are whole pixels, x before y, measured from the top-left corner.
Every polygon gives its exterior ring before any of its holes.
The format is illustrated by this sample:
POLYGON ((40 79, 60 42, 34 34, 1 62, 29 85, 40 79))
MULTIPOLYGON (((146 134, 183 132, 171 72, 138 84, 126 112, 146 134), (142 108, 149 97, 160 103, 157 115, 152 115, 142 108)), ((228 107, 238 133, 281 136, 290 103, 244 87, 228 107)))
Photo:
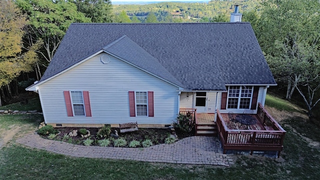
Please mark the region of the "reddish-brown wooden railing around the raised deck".
POLYGON ((261 104, 258 107, 258 117, 265 126, 270 126, 274 130, 242 130, 228 129, 219 110, 217 110, 216 124, 218 136, 223 147, 223 153, 226 150, 272 150, 278 151, 278 156, 283 146, 285 130, 272 118, 261 104))

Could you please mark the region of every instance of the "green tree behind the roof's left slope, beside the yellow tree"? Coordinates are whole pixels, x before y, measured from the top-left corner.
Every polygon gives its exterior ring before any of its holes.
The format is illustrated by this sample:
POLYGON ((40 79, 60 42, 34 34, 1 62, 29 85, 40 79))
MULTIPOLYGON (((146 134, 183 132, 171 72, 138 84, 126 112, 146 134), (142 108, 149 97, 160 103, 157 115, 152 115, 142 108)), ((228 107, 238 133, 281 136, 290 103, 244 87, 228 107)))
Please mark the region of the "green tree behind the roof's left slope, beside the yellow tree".
POLYGON ((37 52, 47 63, 51 61, 71 22, 90 22, 89 18, 77 11, 73 2, 65 0, 16 0, 16 4, 29 18, 24 42, 29 45, 42 44, 42 49, 37 52))

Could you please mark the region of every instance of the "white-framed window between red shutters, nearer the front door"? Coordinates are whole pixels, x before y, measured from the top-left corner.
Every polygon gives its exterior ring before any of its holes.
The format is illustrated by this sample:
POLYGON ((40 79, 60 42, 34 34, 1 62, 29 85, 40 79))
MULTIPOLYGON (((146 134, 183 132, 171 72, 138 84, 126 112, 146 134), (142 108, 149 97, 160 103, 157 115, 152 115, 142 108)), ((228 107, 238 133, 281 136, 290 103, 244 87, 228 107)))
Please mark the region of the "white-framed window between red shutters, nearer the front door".
POLYGON ((136 116, 147 116, 147 92, 135 92, 136 116))

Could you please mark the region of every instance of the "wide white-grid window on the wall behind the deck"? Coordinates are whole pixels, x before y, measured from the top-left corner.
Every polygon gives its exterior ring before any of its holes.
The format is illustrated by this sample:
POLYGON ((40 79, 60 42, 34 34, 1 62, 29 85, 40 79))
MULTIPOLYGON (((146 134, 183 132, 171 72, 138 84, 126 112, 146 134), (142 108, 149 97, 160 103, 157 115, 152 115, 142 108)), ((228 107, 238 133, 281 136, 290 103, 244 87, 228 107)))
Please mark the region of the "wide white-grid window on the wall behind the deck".
POLYGON ((253 86, 229 86, 227 108, 248 109, 251 105, 253 86))

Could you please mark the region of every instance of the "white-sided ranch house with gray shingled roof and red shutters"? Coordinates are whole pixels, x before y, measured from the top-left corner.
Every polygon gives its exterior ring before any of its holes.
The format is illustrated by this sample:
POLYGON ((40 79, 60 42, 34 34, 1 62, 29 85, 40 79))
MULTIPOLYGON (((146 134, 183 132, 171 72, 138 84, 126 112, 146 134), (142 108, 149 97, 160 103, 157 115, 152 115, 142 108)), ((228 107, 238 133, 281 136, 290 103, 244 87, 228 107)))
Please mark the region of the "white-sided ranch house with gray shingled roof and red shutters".
POLYGON ((247 22, 72 23, 26 90, 38 92, 53 126, 161 127, 180 108, 255 114, 270 85, 247 22))

